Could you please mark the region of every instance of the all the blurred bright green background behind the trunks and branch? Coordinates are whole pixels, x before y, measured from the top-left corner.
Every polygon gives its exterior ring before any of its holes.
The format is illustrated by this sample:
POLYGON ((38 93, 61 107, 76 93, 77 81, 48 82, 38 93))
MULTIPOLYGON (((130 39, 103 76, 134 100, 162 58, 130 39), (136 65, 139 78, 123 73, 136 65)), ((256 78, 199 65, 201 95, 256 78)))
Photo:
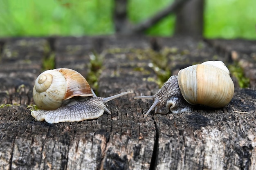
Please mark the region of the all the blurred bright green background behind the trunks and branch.
MULTIPOLYGON (((173 0, 129 0, 128 17, 136 24, 173 0)), ((0 0, 0 37, 108 35, 115 33, 113 0, 0 0)), ((170 15, 146 31, 173 35, 170 15)), ((256 0, 205 0, 205 38, 256 39, 256 0)))

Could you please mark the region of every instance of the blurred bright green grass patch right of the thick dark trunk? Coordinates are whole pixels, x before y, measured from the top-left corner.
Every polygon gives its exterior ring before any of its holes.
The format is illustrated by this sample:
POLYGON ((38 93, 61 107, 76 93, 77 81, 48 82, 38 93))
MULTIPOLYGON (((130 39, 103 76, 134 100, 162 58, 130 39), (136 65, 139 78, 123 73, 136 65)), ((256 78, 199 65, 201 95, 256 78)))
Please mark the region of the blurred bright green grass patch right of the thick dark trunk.
POLYGON ((256 39, 256 0, 207 0, 204 35, 256 39))

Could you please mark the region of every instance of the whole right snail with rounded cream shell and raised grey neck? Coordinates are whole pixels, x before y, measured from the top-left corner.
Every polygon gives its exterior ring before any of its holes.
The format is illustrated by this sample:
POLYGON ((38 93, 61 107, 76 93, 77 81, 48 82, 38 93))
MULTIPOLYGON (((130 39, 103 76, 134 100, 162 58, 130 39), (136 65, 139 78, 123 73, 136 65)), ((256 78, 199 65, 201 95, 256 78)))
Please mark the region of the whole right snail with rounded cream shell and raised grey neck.
POLYGON ((153 109, 160 114, 192 112, 195 104, 222 108, 233 95, 234 83, 228 68, 221 61, 208 61, 180 70, 155 95, 135 99, 154 100, 148 115, 153 109))

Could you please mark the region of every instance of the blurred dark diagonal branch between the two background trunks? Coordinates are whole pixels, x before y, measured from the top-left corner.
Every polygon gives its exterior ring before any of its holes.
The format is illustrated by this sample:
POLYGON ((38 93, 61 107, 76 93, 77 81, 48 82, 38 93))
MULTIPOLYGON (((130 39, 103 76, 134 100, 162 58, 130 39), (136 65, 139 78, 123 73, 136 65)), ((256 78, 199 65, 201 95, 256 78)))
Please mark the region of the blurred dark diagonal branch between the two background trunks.
POLYGON ((169 15, 170 13, 173 13, 180 9, 187 1, 189 0, 175 0, 171 5, 166 7, 165 9, 159 11, 156 13, 153 17, 142 21, 141 23, 132 26, 130 30, 127 32, 129 33, 140 33, 142 31, 145 31, 146 29, 149 29, 151 26, 162 20, 164 17, 169 15))

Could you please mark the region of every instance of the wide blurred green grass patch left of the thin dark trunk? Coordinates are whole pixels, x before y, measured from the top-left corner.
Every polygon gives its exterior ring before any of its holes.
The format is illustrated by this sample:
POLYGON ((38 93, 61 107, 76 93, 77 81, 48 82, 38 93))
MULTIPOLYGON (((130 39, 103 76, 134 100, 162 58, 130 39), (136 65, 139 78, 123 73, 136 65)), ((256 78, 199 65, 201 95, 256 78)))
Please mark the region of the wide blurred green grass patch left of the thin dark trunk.
POLYGON ((0 36, 113 33, 111 0, 0 0, 0 36))

